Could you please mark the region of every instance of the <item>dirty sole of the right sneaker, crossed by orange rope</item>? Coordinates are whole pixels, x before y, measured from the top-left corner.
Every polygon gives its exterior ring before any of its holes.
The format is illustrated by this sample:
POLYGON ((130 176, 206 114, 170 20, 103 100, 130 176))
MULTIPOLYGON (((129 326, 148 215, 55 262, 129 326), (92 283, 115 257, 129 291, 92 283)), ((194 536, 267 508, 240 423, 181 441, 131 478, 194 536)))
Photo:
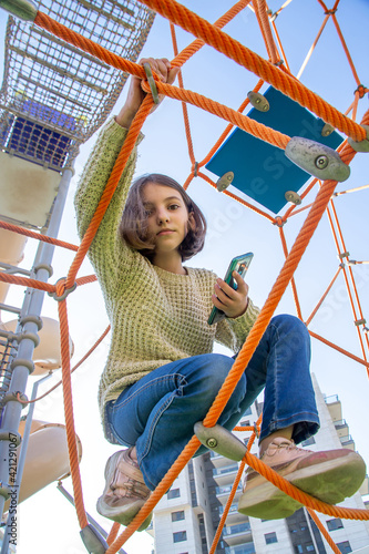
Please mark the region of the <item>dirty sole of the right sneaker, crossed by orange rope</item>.
MULTIPOLYGON (((352 496, 360 488, 366 476, 366 465, 361 456, 352 452, 348 456, 322 462, 319 466, 306 466, 288 475, 284 475, 284 471, 280 471, 279 474, 318 500, 338 504, 347 496, 352 496)), ((239 499, 238 512, 263 520, 279 520, 288 517, 301 505, 258 475, 253 480, 252 486, 246 486, 239 499)))

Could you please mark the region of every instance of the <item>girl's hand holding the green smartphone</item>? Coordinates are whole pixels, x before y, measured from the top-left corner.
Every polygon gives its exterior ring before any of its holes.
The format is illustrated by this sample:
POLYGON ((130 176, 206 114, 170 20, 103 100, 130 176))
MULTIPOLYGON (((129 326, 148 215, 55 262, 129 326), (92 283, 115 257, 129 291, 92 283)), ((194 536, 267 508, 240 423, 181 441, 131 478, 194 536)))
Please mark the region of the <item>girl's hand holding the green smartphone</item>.
POLYGON ((218 278, 214 285, 215 295, 212 295, 212 300, 214 306, 224 311, 227 317, 236 318, 245 314, 247 309, 248 285, 237 271, 233 271, 232 276, 237 283, 237 290, 218 278))

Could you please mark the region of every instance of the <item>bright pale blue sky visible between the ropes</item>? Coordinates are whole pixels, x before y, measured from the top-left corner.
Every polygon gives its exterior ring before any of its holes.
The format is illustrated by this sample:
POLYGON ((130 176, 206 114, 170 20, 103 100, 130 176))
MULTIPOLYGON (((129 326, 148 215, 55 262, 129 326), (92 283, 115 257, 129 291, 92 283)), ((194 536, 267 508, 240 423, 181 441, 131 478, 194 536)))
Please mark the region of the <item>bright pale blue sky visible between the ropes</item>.
MULTIPOLYGON (((183 3, 211 22, 218 19, 233 4, 228 0, 185 0, 183 3)), ((281 3, 270 1, 269 7, 276 11, 281 3)), ((331 7, 330 3, 334 2, 329 2, 328 8, 331 7)), ((4 32, 6 19, 7 14, 1 10, 1 35, 4 32)), ((294 74, 301 66, 322 19, 321 6, 318 1, 312 0, 308 4, 304 0, 293 0, 278 16, 276 24, 294 74)), ((369 21, 369 4, 365 0, 341 0, 337 19, 358 75, 361 82, 368 85, 365 38, 369 21)), ((244 10, 234 22, 225 28, 225 31, 264 58, 267 55, 255 16, 249 9, 244 10)), ((180 49, 193 40, 184 31, 178 31, 177 39, 180 49)), ((0 55, 3 60, 3 44, 1 44, 1 49, 0 55)), ((158 16, 142 55, 173 58, 168 23, 158 16)), ((258 80, 256 75, 208 47, 204 47, 186 63, 183 76, 186 89, 199 92, 234 109, 238 107, 258 80)), ((306 70, 303 72, 301 82, 342 112, 351 104, 356 84, 332 21, 328 22, 306 70)), ((126 89, 123 90, 113 113, 116 113, 117 106, 123 103, 125 93, 126 89)), ((361 120, 367 109, 368 100, 365 98, 359 104, 358 121, 361 120)), ((195 157, 201 161, 213 146, 226 123, 197 107, 189 106, 188 112, 195 157)), ((143 133, 145 140, 140 146, 136 174, 160 172, 184 182, 189 173, 191 162, 180 103, 174 100, 163 102, 146 121, 143 133)), ((81 147, 60 229, 60 238, 74 244, 78 243, 78 237, 73 195, 79 174, 94 141, 95 135, 81 147)), ((351 164, 349 179, 340 183, 337 191, 347 191, 368 184, 367 166, 367 156, 358 154, 351 164)), ((250 297, 256 305, 262 307, 284 263, 277 227, 266 218, 217 193, 199 178, 191 184, 188 193, 201 206, 208 222, 205 248, 189 260, 188 265, 206 267, 223 275, 233 256, 254 252, 255 257, 248 271, 247 283, 250 297)), ((316 192, 307 197, 306 204, 314 199, 315 194, 316 192)), ((351 259, 356 260, 369 259, 367 240, 368 194, 369 191, 366 188, 361 192, 341 195, 336 199, 336 209, 347 249, 350 252, 351 259)), ((306 214, 307 212, 303 212, 294 216, 285 225, 284 230, 289 247, 303 226, 306 214)), ((23 267, 27 267, 27 263, 32 264, 33 255, 34 244, 29 240, 23 267)), ((57 249, 52 283, 66 275, 72 258, 71 253, 57 249)), ((295 274, 304 318, 309 316, 337 267, 335 243, 327 217, 324 216, 295 274)), ((357 279, 363 314, 369 317, 369 265, 360 264, 353 266, 352 270, 357 279)), ((92 268, 85 261, 80 276, 91 273, 92 268)), ((11 287, 7 301, 14 304, 20 297, 19 295, 19 287, 11 287)), ((58 318, 57 308, 55 302, 47 297, 43 315, 58 318)), ((70 335, 75 348, 73 365, 94 343, 109 324, 99 286, 93 284, 79 287, 76 293, 70 295, 68 299, 68 312, 70 335)), ((276 314, 280 312, 296 312, 289 289, 277 307, 276 314)), ((2 317, 7 320, 6 315, 2 317)), ((356 356, 361 355, 342 276, 336 281, 310 328, 356 356)), ((115 451, 115 448, 103 438, 96 403, 98 383, 107 350, 109 337, 73 376, 75 428, 83 444, 81 475, 85 509, 106 530, 110 529, 110 523, 99 516, 94 506, 104 486, 105 461, 115 451)), ((223 350, 217 348, 217 351, 223 350)), ((369 390, 366 369, 317 340, 312 340, 311 371, 316 375, 325 394, 338 394, 342 403, 342 417, 349 424, 357 450, 368 464, 368 432, 366 418, 362 417, 362 413, 366 412, 365 407, 369 390)), ((40 391, 48 390, 59 379, 60 373, 57 371, 47 384, 40 387, 40 391)), ((29 394, 33 382, 31 378, 29 394)), ((60 388, 37 403, 34 417, 43 421, 63 422, 63 402, 60 388)), ((70 479, 65 481, 64 486, 69 492, 72 491, 70 479)), ((82 554, 86 552, 79 537, 75 512, 57 490, 55 483, 21 504, 19 517, 18 552, 20 554, 30 552, 47 554, 50 551, 53 554, 82 554)), ((139 551, 140 554, 151 553, 152 538, 147 533, 136 533, 124 545, 124 550, 129 554, 139 551)))

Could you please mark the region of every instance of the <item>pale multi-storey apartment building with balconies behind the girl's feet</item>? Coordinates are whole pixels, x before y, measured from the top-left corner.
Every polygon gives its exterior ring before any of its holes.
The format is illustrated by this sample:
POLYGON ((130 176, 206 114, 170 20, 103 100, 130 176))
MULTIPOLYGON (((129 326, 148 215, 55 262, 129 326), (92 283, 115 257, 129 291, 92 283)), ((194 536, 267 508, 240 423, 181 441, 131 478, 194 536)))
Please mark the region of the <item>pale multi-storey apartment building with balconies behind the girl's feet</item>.
MULTIPOLYGON (((320 430, 304 443, 309 450, 349 448, 355 442, 349 427, 342 419, 342 407, 338 397, 324 397, 314 378, 320 430)), ((254 424, 262 404, 257 402, 240 420, 240 424, 254 424)), ((249 433, 237 432, 247 442, 249 433)), ((256 453, 256 444, 252 452, 256 453)), ((238 463, 215 452, 194 458, 173 483, 171 490, 157 504, 152 527, 156 554, 207 554, 224 513, 229 492, 235 482, 238 463)), ((361 490, 342 505, 363 509, 368 491, 368 479, 361 490)), ((237 503, 242 494, 238 485, 225 526, 218 541, 217 554, 330 554, 318 527, 305 507, 285 520, 263 521, 238 513, 237 503)), ((368 496, 369 503, 369 496, 368 496)), ((340 520, 318 514, 330 532, 341 553, 369 554, 369 522, 340 520)))

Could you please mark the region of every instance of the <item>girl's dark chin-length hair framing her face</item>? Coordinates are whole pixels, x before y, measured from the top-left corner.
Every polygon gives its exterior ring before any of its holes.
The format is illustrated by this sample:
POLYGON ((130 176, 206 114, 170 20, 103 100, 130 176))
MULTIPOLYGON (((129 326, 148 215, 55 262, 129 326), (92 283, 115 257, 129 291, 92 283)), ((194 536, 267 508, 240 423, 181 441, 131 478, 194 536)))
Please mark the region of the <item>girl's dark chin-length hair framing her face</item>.
POLYGON ((151 173, 135 179, 130 188, 122 215, 120 233, 122 238, 135 250, 151 259, 155 245, 147 233, 147 216, 143 204, 143 188, 148 183, 175 188, 182 196, 188 214, 193 214, 195 230, 188 225, 187 235, 178 247, 182 260, 192 258, 204 247, 206 220, 199 207, 189 198, 183 186, 174 178, 161 173, 151 173))

